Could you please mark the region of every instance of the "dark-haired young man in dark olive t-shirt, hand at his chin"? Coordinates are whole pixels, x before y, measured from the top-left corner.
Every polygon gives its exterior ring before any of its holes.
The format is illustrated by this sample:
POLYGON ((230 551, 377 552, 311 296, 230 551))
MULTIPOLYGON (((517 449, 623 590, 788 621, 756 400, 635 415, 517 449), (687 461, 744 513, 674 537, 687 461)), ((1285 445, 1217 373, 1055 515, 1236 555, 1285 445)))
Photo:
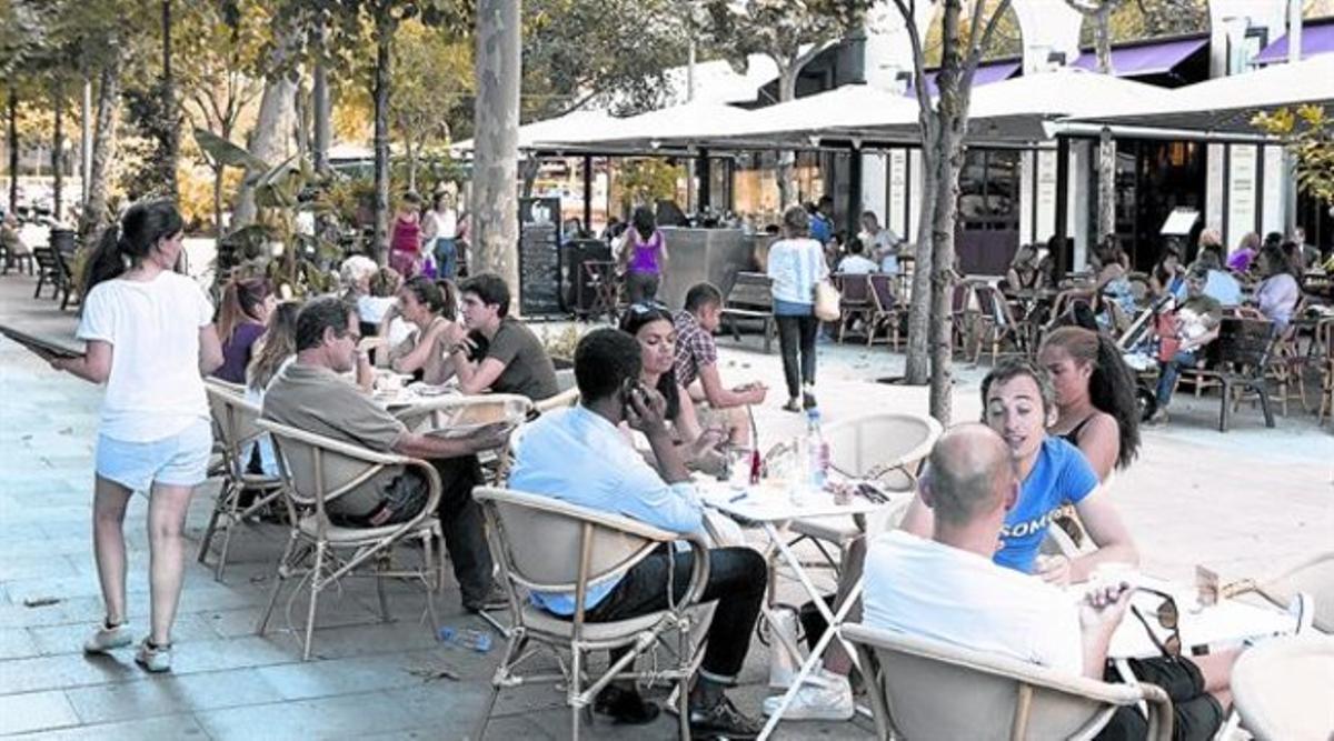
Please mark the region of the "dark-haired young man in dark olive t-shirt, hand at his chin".
POLYGON ((494 273, 474 276, 459 288, 463 324, 446 335, 454 372, 463 393, 518 393, 542 401, 560 393, 556 368, 542 340, 523 323, 510 316, 510 287, 494 273), (486 341, 479 359, 470 353, 486 341))

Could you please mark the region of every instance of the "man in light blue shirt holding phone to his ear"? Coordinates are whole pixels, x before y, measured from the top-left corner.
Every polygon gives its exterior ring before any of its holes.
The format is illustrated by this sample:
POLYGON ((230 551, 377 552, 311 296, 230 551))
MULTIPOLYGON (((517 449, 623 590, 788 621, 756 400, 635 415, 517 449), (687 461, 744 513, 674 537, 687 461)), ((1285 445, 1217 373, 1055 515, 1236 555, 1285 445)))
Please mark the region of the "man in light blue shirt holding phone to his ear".
MULTIPOLYGON (((634 517, 679 533, 703 530, 703 506, 664 420, 666 402, 638 384, 639 343, 616 329, 598 329, 575 349, 575 381, 580 404, 546 414, 518 444, 510 486, 546 494, 590 509, 634 517), (627 422, 652 448, 658 470, 650 466, 619 429, 627 422), (662 474, 659 474, 659 470, 662 474)), ((671 578, 674 600, 690 581, 692 553, 662 549, 623 577, 588 589, 584 620, 624 620, 667 608, 671 578)), ((703 601, 718 602, 707 634, 699 676, 690 693, 690 725, 698 736, 754 738, 760 726, 743 716, 723 694, 746 661, 750 634, 764 598, 767 566, 750 548, 708 552, 708 581, 703 601)), ((534 602, 560 617, 572 617, 571 593, 535 593, 534 602)), ((615 657, 612 658, 615 661, 615 657)), ((594 709, 622 722, 648 722, 658 709, 644 705, 634 685, 608 685, 594 709)))

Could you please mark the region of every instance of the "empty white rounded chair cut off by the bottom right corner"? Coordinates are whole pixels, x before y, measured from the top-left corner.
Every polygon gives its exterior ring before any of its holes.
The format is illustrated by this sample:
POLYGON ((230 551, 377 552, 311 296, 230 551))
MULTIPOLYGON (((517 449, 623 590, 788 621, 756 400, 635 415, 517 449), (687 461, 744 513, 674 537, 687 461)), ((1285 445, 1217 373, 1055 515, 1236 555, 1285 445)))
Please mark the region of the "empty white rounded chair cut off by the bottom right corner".
POLYGON ((1334 637, 1270 638, 1233 666, 1242 726, 1262 741, 1334 738, 1334 637))

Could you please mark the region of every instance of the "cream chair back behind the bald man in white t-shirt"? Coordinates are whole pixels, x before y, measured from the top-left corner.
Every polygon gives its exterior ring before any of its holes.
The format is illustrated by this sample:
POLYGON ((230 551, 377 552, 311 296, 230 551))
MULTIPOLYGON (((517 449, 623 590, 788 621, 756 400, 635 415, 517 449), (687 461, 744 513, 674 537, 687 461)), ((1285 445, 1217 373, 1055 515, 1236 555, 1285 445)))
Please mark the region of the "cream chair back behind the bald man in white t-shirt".
POLYGON ((1149 738, 1171 738, 1162 689, 1070 676, 942 641, 847 624, 856 646, 878 738, 1089 740, 1122 706, 1147 702, 1149 738))

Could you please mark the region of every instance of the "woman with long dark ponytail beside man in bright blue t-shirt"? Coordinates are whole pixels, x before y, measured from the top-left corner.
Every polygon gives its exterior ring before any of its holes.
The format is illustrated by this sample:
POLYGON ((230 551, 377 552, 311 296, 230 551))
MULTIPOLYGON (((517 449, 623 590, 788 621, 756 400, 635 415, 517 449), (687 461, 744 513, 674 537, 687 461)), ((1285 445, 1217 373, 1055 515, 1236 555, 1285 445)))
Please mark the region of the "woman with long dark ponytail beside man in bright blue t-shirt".
POLYGON ((1042 341, 1038 363, 1057 393, 1051 433, 1079 448, 1099 480, 1129 466, 1139 452, 1139 405, 1135 378, 1111 337, 1062 327, 1042 341))

